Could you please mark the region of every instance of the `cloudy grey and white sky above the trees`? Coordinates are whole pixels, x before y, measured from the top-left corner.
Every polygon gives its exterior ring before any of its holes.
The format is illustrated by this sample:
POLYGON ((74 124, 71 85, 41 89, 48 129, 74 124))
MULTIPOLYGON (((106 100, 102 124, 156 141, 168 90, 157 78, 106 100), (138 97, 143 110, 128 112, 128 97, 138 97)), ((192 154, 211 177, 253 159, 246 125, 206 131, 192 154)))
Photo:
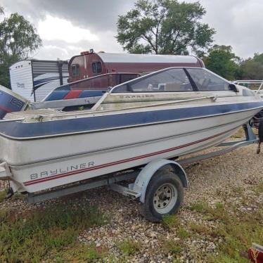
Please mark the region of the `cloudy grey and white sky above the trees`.
MULTIPOLYGON (((263 0, 199 2, 207 11, 203 23, 217 32, 214 44, 232 46, 241 58, 263 53, 263 0)), ((56 60, 89 49, 124 53, 115 39, 116 23, 118 15, 134 6, 134 0, 0 0, 0 6, 5 15, 17 12, 36 27, 43 46, 34 58, 56 60)))

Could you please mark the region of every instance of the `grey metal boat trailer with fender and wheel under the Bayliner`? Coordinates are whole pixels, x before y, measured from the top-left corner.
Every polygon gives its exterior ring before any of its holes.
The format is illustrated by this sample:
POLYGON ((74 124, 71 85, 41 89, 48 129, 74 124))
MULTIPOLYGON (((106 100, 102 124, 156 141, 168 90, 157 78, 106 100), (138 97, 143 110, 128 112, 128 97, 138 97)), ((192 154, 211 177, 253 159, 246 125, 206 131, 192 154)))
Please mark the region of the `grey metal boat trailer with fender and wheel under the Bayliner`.
MULTIPOLYGON (((176 160, 153 160, 144 167, 136 167, 113 174, 106 174, 98 178, 87 179, 75 184, 60 186, 39 193, 27 193, 28 203, 37 203, 63 195, 79 193, 100 186, 109 186, 113 191, 129 196, 142 203, 143 215, 152 222, 158 222, 164 214, 172 214, 179 210, 184 200, 184 188, 188 188, 188 179, 181 165, 191 164, 200 160, 214 158, 242 146, 262 141, 252 131, 250 124, 243 125, 245 131, 244 140, 225 141, 211 153, 196 155, 192 158, 176 160)), ((8 176, 4 164, 0 164, 0 179, 8 176)), ((10 176, 10 174, 9 174, 10 176)), ((12 195, 12 189, 8 197, 12 195)))

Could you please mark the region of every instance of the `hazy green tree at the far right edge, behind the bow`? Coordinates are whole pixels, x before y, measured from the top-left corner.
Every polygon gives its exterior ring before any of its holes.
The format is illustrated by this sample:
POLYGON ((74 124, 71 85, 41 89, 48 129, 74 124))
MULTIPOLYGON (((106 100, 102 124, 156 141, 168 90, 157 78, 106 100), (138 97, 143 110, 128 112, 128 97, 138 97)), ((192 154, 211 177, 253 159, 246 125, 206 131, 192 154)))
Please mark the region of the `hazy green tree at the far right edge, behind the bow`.
POLYGON ((255 53, 253 58, 244 60, 240 71, 242 79, 263 79, 263 53, 255 53))

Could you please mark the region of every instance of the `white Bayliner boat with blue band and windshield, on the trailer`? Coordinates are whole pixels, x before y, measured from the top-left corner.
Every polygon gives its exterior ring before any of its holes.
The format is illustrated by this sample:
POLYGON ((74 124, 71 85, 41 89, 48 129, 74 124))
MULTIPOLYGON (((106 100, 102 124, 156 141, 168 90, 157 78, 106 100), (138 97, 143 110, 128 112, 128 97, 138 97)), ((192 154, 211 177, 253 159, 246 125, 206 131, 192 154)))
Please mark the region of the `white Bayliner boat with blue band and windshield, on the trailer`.
POLYGON ((205 68, 158 70, 113 87, 91 109, 7 113, 0 179, 35 193, 177 158, 219 145, 262 109, 258 94, 205 68))

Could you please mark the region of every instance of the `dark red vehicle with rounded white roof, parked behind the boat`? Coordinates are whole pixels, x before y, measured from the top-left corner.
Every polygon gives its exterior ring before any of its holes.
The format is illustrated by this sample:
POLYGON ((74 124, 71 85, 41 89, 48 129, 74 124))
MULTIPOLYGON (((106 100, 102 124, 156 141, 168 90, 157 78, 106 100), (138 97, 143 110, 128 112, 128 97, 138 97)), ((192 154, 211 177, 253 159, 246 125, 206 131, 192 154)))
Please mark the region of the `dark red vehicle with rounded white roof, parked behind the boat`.
POLYGON ((195 56, 94 53, 92 50, 91 52, 84 51, 70 59, 68 63, 70 75, 68 82, 108 73, 125 73, 124 75, 118 75, 118 79, 109 79, 108 81, 103 79, 101 83, 97 82, 94 86, 96 89, 105 89, 108 86, 115 86, 134 79, 141 73, 177 66, 203 68, 204 63, 195 56))

